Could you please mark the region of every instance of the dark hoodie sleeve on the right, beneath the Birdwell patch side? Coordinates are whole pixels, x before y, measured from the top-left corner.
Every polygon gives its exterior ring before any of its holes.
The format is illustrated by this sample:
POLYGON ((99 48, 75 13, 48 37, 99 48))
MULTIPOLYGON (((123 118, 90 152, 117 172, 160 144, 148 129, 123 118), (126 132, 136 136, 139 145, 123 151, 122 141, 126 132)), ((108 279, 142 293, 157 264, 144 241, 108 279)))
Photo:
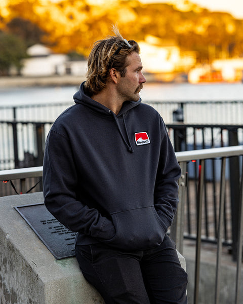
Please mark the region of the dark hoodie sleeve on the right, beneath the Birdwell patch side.
POLYGON ((154 188, 154 207, 164 224, 165 232, 172 224, 176 213, 180 176, 181 168, 177 162, 165 123, 161 119, 161 146, 154 188))

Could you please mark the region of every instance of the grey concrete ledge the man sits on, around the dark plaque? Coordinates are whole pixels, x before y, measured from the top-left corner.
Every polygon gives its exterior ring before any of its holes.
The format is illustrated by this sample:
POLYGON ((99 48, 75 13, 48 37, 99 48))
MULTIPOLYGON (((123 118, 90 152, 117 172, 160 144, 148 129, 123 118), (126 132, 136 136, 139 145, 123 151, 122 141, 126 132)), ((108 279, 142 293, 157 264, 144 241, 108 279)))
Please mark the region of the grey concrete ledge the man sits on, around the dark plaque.
POLYGON ((43 203, 43 193, 0 198, 0 303, 104 304, 76 259, 56 260, 14 209, 36 203, 43 203))

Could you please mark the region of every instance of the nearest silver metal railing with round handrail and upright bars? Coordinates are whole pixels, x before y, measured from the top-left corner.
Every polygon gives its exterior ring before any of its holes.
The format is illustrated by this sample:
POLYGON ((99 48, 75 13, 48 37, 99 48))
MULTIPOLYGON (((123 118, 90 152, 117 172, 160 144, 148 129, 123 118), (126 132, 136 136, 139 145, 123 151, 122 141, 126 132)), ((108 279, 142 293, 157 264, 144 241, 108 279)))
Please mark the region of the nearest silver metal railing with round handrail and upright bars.
MULTIPOLYGON (((185 213, 186 213, 186 189, 189 187, 189 182, 187 180, 188 175, 188 164, 198 163, 197 176, 195 177, 197 181, 197 187, 195 190, 196 194, 196 255, 195 255, 195 274, 194 274, 194 300, 193 303, 197 304, 199 299, 199 277, 200 277, 200 259, 201 259, 201 238, 202 238, 202 228, 203 228, 203 197, 205 196, 205 168, 206 161, 209 160, 219 160, 220 161, 220 181, 219 187, 214 188, 214 192, 218 192, 218 204, 217 204, 217 253, 216 253, 216 279, 215 279, 215 304, 219 303, 220 299, 220 280, 221 280, 221 258, 222 258, 222 246, 224 241, 223 236, 223 220, 224 220, 224 209, 226 202, 226 188, 227 188, 227 161, 231 158, 240 159, 239 161, 239 174, 238 174, 238 204, 237 204, 237 223, 238 229, 235 234, 235 247, 236 247, 236 279, 235 279, 235 304, 239 304, 239 294, 240 294, 240 282, 241 282, 241 264, 242 264, 242 242, 243 242, 243 198, 242 198, 242 187, 243 187, 243 146, 231 146, 231 147, 220 147, 211 149, 201 149, 192 151, 181 151, 176 153, 177 160, 182 169, 182 175, 179 180, 179 205, 177 213, 170 229, 170 234, 172 239, 177 244, 177 249, 183 253, 183 239, 185 234, 185 213)), ((0 181, 6 181, 11 179, 21 179, 25 180, 27 178, 42 177, 43 173, 42 167, 36 168, 23 168, 23 169, 12 169, 0 171, 0 181)), ((212 193, 212 196, 214 194, 212 193)), ((234 206, 236 207, 236 206, 234 206)), ((234 219, 235 220, 235 219, 234 219)), ((213 288, 213 286, 212 286, 213 288)))

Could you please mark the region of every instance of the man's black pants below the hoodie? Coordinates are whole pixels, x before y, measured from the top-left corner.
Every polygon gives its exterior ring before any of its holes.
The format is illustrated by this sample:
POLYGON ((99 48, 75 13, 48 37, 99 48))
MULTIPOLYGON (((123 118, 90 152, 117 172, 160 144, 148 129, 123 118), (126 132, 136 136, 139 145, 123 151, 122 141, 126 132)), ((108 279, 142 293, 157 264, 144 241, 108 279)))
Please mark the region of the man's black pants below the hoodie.
POLYGON ((104 244, 76 246, 84 277, 106 304, 186 304, 187 274, 166 235, 153 249, 124 252, 104 244))

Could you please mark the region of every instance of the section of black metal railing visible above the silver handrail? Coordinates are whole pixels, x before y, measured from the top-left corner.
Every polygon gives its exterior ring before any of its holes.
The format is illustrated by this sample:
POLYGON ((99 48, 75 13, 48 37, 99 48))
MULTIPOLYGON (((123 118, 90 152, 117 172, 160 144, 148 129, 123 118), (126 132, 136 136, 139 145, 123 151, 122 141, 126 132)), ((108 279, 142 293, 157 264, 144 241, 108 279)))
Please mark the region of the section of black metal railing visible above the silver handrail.
MULTIPOLYGON (((0 170, 41 166, 52 122, 0 121, 0 170)), ((243 143, 243 125, 167 125, 175 151, 243 143)))

